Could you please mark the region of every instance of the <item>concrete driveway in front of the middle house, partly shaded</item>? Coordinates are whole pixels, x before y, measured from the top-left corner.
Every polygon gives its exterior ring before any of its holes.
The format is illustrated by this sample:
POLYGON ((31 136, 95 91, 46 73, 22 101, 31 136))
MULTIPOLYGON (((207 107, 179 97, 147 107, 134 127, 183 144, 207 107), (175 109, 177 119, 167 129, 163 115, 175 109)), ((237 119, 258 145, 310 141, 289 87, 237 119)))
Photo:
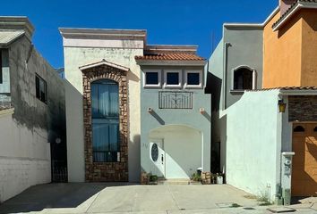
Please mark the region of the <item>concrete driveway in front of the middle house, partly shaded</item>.
MULTIPOLYGON (((4 202, 0 213, 271 213, 247 195, 230 185, 48 184, 4 202)), ((316 213, 313 206, 297 210, 316 213)))

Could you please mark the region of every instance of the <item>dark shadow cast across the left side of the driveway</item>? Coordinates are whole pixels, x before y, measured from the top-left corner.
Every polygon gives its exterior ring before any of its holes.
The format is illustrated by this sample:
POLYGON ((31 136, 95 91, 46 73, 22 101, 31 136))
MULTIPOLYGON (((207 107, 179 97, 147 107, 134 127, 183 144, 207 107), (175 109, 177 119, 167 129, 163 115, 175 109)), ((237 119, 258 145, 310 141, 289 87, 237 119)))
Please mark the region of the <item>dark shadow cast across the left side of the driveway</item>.
POLYGON ((12 199, 2 203, 0 205, 0 213, 21 213, 54 208, 76 208, 106 188, 124 185, 133 184, 68 183, 34 185, 12 199))

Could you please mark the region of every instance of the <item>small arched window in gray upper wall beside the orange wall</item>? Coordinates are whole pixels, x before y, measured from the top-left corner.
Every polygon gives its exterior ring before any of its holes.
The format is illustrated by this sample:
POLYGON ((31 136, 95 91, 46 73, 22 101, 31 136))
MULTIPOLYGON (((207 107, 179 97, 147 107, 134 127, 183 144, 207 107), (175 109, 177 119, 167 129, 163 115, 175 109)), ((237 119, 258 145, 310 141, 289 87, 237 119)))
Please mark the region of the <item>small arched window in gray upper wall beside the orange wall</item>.
POLYGON ((234 70, 234 90, 252 90, 253 72, 247 67, 241 67, 234 70))

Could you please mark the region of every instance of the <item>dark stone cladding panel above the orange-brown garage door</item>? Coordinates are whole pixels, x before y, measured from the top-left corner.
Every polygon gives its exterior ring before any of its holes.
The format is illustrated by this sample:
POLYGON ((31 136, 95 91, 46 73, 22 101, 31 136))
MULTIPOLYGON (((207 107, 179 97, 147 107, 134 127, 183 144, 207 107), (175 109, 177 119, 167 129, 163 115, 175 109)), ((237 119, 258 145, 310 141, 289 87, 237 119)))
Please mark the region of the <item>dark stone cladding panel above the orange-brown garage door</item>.
POLYGON ((317 96, 289 96, 288 112, 289 121, 317 121, 317 96))

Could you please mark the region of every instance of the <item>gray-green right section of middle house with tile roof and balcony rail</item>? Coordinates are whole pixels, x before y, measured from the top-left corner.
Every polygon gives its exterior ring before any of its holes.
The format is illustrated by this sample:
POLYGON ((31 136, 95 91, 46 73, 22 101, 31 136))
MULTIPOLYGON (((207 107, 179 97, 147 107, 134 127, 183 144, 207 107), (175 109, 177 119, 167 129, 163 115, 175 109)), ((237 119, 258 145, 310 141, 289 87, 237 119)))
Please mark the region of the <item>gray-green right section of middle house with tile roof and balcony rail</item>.
POLYGON ((147 45, 141 67, 141 171, 189 179, 210 171, 210 95, 196 46, 147 45), (184 153, 190 152, 190 155, 184 153))

